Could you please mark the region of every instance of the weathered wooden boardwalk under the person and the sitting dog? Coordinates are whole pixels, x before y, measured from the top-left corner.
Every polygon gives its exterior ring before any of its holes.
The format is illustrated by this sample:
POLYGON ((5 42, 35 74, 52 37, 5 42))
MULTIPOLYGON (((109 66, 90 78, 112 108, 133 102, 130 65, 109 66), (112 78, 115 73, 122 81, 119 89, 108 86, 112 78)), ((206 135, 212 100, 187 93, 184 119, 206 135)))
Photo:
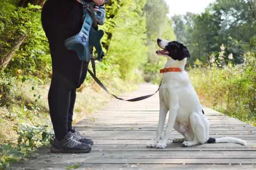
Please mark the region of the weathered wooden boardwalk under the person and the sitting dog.
MULTIPOLYGON (((130 99, 152 94, 157 86, 144 84, 130 99)), ((146 148, 156 135, 158 94, 140 102, 112 100, 105 108, 79 122, 76 129, 94 140, 87 154, 52 154, 49 147, 38 150, 40 156, 20 161, 12 170, 64 170, 81 164, 76 170, 256 170, 256 127, 217 111, 204 108, 210 122, 211 137, 233 136, 239 144, 203 144, 183 147, 167 143, 165 149, 146 148)), ((167 116, 168 118, 168 116, 167 116)), ((171 138, 181 137, 173 130, 171 138)))

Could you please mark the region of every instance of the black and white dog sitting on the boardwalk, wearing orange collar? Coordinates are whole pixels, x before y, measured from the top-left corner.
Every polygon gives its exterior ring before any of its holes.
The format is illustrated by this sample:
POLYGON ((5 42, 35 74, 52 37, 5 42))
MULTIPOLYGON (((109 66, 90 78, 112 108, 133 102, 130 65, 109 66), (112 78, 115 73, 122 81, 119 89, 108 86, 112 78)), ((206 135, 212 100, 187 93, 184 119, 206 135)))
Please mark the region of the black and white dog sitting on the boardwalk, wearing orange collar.
POLYGON ((182 143, 189 147, 204 143, 237 143, 246 145, 246 142, 233 137, 209 138, 209 121, 204 115, 201 103, 195 89, 189 81, 184 67, 189 51, 183 44, 166 40, 157 40, 162 51, 156 53, 167 58, 163 69, 163 80, 160 86, 160 115, 157 127, 157 136, 147 147, 165 148, 170 138, 172 128, 182 134, 184 138, 174 138, 172 142, 182 143), (160 141, 163 127, 169 111, 169 119, 163 141, 160 141))

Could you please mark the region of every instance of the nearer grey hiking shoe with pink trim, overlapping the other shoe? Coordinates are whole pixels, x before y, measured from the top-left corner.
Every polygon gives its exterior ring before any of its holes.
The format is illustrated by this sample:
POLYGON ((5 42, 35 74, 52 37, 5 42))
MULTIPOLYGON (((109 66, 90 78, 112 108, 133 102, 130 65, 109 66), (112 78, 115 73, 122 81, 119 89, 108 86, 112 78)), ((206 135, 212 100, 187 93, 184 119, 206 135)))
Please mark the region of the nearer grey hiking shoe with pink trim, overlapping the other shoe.
POLYGON ((55 138, 52 143, 52 153, 88 153, 92 149, 90 144, 81 143, 76 140, 69 132, 63 140, 57 141, 55 138))

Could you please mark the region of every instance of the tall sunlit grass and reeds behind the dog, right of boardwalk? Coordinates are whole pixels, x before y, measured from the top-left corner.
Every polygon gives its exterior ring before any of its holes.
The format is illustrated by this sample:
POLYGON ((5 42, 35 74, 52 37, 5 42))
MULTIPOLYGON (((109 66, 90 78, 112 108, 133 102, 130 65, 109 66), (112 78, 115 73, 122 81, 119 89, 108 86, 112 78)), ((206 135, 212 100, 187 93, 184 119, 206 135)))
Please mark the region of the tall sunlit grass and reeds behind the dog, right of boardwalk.
MULTIPOLYGON (((256 39, 247 46, 255 47, 256 39)), ((217 58, 212 55, 207 64, 197 60, 190 67, 192 85, 204 105, 256 125, 256 50, 247 49, 240 65, 224 50, 221 46, 217 58)))

